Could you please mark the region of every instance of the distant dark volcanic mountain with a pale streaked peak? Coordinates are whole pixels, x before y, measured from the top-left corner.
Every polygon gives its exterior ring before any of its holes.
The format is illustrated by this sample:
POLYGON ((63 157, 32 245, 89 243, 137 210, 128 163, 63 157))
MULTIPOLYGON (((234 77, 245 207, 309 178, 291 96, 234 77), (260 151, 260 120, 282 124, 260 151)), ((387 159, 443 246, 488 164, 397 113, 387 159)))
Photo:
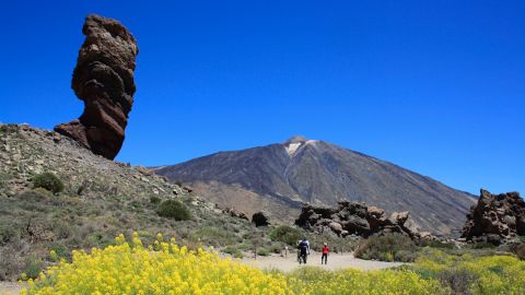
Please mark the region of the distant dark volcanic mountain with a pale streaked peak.
POLYGON ((474 196, 388 162, 328 142, 293 137, 284 143, 220 152, 155 169, 187 182, 223 206, 250 214, 266 210, 282 221, 301 203, 362 201, 387 211, 410 211, 424 231, 462 228, 474 196))

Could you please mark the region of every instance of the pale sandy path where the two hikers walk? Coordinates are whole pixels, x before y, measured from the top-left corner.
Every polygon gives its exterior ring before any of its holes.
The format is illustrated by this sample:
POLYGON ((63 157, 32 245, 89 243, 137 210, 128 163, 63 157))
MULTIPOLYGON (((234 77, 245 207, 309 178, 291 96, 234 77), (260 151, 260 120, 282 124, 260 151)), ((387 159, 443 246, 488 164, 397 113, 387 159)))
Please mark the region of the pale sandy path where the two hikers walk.
MULTIPOLYGON (((291 253, 288 258, 280 256, 269 256, 269 257, 257 257, 257 260, 253 258, 244 258, 242 262, 250 264, 259 269, 279 269, 281 271, 291 271, 299 268, 295 253, 291 253)), ((338 270, 338 269, 348 269, 355 268, 359 270, 370 271, 370 270, 381 270, 402 266, 402 262, 383 262, 383 261, 372 261, 372 260, 362 260, 354 258, 351 253, 338 255, 334 253, 328 257, 328 263, 320 264, 320 253, 312 253, 308 257, 306 266, 311 267, 320 267, 327 270, 338 270)))

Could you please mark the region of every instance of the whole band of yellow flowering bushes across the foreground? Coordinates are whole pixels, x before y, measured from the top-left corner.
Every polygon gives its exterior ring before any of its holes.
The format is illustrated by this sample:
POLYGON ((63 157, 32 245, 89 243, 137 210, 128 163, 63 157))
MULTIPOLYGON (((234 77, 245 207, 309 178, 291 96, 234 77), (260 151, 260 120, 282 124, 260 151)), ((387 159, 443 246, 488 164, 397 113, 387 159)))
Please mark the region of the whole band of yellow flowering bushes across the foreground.
POLYGON ((456 257, 432 252, 408 268, 362 272, 300 268, 260 271, 213 251, 188 250, 159 234, 144 247, 138 234, 105 249, 73 251, 72 262, 48 268, 21 294, 450 294, 439 273, 462 268, 479 278, 474 294, 525 294, 525 262, 513 257, 456 257), (427 275, 424 275, 427 273, 427 275), (430 274, 430 275, 429 275, 430 274), (433 275, 432 275, 433 274, 433 275))

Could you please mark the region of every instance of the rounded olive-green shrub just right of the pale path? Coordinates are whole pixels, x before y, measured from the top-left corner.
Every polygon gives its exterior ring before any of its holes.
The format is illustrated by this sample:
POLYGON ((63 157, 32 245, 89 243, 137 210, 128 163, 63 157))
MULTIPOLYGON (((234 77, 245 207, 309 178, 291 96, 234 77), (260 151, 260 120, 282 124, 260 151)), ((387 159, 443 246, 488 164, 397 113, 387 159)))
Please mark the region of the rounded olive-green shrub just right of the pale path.
POLYGON ((418 247, 409 237, 396 233, 361 240, 354 256, 362 259, 412 262, 417 252, 418 247))

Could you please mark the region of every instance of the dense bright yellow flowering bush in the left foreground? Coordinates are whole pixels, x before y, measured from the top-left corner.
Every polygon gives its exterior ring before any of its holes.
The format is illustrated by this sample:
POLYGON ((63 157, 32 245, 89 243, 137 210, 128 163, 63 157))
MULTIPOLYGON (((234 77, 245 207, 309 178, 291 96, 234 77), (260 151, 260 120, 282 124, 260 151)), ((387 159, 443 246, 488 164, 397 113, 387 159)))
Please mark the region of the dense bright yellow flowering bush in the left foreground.
POLYGON ((21 294, 292 294, 283 278, 174 239, 160 236, 148 248, 137 234, 131 244, 122 235, 116 241, 91 253, 73 251, 71 263, 48 268, 21 294))

